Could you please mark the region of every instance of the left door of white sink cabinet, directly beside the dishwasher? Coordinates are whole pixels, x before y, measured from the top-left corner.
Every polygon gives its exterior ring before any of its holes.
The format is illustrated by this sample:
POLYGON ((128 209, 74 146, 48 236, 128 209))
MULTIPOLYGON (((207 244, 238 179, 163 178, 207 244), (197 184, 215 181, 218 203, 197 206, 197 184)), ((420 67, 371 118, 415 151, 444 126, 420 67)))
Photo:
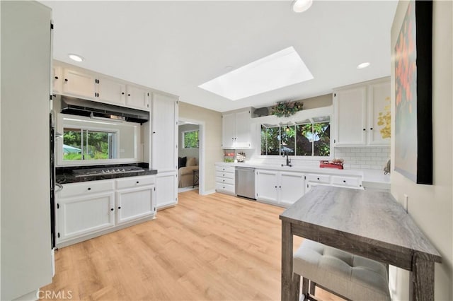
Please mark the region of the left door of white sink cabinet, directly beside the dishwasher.
POLYGON ((278 172, 258 170, 256 172, 256 199, 270 203, 278 203, 278 172))

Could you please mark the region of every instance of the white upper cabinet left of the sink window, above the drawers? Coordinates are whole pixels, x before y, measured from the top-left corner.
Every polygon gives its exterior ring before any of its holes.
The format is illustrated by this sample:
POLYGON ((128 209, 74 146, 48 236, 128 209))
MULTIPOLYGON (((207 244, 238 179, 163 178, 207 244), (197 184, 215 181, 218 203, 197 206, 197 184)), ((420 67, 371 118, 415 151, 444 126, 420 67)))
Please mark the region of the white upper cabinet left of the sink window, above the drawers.
POLYGON ((222 114, 222 148, 251 148, 250 110, 222 114))

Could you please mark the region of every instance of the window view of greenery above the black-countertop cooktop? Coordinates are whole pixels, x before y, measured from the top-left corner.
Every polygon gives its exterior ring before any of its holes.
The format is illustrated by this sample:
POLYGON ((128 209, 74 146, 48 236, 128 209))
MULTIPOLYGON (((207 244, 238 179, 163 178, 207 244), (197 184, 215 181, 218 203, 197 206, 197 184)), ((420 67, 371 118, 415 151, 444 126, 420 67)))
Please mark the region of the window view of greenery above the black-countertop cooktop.
POLYGON ((64 128, 63 160, 115 159, 116 144, 116 132, 64 128))

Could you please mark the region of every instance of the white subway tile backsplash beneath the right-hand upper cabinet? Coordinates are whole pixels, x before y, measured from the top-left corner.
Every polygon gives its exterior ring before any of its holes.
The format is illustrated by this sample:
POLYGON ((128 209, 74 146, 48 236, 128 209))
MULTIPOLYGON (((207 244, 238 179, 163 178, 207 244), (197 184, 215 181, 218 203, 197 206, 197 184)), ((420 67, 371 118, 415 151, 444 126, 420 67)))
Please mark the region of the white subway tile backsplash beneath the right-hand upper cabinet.
POLYGON ((335 158, 345 160, 345 169, 382 170, 390 159, 389 146, 336 147, 335 158))

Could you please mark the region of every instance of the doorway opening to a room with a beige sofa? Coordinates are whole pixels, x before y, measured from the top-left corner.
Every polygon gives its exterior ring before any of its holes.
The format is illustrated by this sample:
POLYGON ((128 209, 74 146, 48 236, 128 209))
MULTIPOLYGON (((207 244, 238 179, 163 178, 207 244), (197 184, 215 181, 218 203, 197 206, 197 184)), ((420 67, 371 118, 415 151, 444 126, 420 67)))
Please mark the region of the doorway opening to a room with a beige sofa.
POLYGON ((204 122, 180 118, 178 121, 178 193, 198 190, 204 194, 204 122))

